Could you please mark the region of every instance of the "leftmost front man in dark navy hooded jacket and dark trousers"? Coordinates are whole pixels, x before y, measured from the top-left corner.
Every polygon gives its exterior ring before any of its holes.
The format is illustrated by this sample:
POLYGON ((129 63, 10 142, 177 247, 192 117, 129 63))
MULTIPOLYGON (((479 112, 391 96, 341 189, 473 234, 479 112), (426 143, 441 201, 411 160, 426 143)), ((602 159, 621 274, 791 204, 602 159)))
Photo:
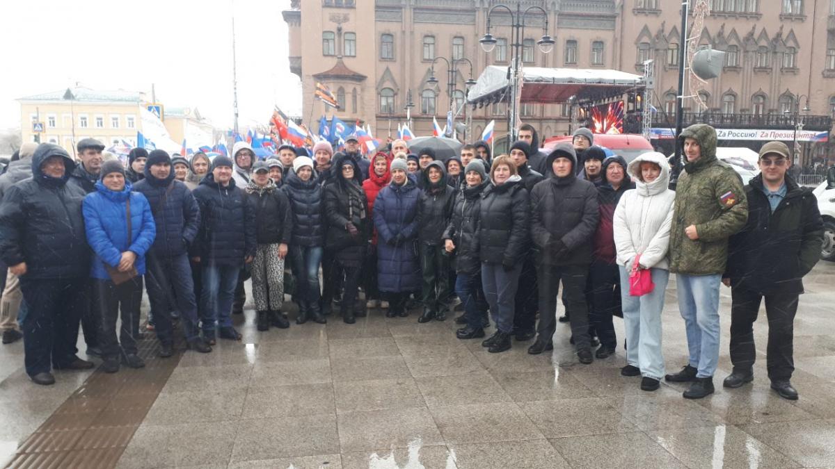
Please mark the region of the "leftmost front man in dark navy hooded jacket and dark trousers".
POLYGON ((28 306, 23 346, 28 376, 51 385, 51 368, 88 370, 78 356, 78 320, 86 309, 90 250, 81 214, 83 190, 67 184, 75 163, 55 144, 40 144, 32 179, 14 184, 0 204, 0 256, 20 279, 28 306))

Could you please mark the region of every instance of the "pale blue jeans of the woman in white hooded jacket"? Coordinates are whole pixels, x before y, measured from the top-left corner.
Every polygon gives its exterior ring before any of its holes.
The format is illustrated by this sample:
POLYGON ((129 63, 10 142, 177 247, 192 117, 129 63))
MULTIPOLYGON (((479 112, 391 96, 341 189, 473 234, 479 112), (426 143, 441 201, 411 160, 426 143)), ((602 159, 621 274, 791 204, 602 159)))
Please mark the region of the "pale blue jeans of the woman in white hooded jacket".
POLYGON ((640 375, 654 380, 664 376, 661 353, 661 311, 670 272, 650 269, 655 288, 646 295, 629 294, 629 272, 620 265, 620 302, 626 330, 626 363, 640 368, 640 375))

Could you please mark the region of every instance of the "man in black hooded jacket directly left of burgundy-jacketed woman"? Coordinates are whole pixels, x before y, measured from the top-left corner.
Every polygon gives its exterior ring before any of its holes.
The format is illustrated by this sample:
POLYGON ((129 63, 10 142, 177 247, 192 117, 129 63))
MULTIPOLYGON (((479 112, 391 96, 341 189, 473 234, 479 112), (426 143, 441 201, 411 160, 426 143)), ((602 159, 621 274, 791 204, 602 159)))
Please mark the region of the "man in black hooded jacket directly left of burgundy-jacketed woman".
POLYGON ((531 235, 539 262, 539 336, 528 353, 553 349, 559 281, 571 308, 571 333, 580 363, 594 361, 589 337, 588 305, 584 288, 591 263, 591 238, 600 217, 597 190, 577 179, 577 157, 568 144, 548 155, 551 176, 531 192, 531 235))

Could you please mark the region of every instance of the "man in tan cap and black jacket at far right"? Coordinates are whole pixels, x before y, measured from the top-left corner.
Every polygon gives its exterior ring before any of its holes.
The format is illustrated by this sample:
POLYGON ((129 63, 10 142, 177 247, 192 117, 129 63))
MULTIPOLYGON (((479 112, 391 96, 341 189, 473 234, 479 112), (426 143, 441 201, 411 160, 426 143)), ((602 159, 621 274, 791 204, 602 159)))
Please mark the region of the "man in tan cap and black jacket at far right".
POLYGON ((745 186, 748 221, 731 236, 725 275, 731 285, 731 363, 725 387, 753 381, 753 324, 766 298, 766 359, 772 389, 797 399, 792 386, 793 322, 803 293, 802 277, 820 259, 823 222, 812 190, 787 175, 792 156, 786 144, 769 142, 760 150, 761 173, 745 186))

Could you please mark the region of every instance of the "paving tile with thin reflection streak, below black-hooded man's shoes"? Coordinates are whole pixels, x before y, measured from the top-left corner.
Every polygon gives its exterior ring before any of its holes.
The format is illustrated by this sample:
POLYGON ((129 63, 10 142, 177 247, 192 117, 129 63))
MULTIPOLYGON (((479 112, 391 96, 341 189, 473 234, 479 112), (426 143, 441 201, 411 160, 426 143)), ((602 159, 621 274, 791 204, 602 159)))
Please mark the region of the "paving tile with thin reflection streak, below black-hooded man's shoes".
POLYGON ((493 378, 514 401, 553 401, 595 397, 594 393, 562 368, 524 373, 493 372, 493 378))

